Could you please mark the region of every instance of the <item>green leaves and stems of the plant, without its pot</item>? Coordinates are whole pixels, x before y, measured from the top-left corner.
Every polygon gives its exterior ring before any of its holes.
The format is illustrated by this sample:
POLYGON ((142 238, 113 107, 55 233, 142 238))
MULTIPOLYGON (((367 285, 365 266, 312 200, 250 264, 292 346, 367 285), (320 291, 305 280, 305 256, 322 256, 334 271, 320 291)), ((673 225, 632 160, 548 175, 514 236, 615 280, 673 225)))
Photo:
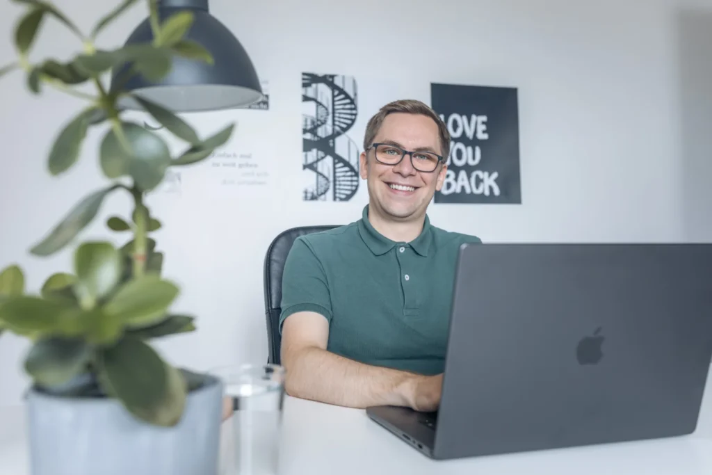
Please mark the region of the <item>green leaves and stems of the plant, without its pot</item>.
POLYGON ((73 268, 53 273, 40 291, 31 293, 20 266, 6 263, 0 272, 0 333, 14 333, 31 343, 23 368, 33 390, 53 397, 112 398, 140 421, 174 426, 182 417, 187 395, 204 384, 204 377, 170 365, 149 343, 195 326, 194 317, 170 310, 179 288, 162 276, 164 256, 150 237, 161 223, 145 199, 162 183, 169 167, 200 162, 224 145, 234 124, 201 138, 182 118, 125 90, 125 85, 136 74, 161 80, 176 57, 207 63, 212 58, 199 43, 185 39, 192 14, 179 11, 161 18, 157 0, 145 2, 152 41, 115 49, 98 48, 98 35, 137 0, 116 5, 88 35, 49 1, 13 1, 25 9, 14 29, 18 58, 1 68, 0 75, 17 71, 25 75, 26 88, 35 95, 41 95, 43 88, 56 88, 85 103, 51 139, 48 173, 59 177, 80 157, 90 155, 83 142, 88 133, 96 132, 101 140, 94 156, 98 155, 107 184, 86 194, 59 216, 45 236, 28 246, 38 258, 63 250, 73 253, 73 268), (68 61, 31 60, 33 43, 45 21, 59 21, 78 36, 77 51, 68 61), (108 84, 112 71, 119 74, 108 84), (179 153, 172 154, 156 132, 125 120, 120 100, 127 97, 177 138, 182 144, 179 153), (111 216, 106 222, 110 231, 120 234, 109 234, 113 241, 79 242, 83 229, 114 193, 132 197, 133 206, 124 217, 111 216))

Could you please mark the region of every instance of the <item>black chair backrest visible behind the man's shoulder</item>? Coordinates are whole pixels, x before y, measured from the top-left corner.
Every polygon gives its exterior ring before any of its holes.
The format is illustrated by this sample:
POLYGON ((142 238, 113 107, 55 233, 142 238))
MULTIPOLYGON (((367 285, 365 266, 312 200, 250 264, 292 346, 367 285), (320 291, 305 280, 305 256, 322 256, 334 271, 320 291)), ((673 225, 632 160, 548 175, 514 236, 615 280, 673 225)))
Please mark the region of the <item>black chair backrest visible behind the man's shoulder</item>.
POLYGON ((269 348, 268 362, 280 364, 279 317, 282 313, 282 274, 294 241, 299 236, 327 231, 337 226, 303 226, 287 229, 281 232, 270 244, 265 256, 264 286, 265 286, 265 316, 267 318, 267 342, 269 348))

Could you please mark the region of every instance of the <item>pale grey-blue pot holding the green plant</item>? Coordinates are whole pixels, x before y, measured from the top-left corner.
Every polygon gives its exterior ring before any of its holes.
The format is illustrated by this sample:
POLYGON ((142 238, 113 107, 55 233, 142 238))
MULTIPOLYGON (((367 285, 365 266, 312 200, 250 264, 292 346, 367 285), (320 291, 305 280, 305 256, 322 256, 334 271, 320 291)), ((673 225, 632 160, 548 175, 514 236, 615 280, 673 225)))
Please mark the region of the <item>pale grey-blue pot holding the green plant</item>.
POLYGON ((180 422, 156 427, 107 397, 27 395, 32 475, 216 475, 223 385, 205 376, 180 422))

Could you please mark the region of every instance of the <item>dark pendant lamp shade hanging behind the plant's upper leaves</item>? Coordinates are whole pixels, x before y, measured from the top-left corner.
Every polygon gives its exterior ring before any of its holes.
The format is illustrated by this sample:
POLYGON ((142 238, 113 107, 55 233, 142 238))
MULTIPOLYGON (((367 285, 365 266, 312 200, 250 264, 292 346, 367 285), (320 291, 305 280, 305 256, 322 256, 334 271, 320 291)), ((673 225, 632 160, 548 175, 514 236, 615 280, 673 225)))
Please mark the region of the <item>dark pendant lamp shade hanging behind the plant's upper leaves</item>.
MULTIPOLYGON (((134 75, 125 89, 174 112, 243 108, 261 100, 262 88, 250 57, 229 29, 209 14, 207 0, 159 1, 161 21, 183 10, 192 11, 194 16, 184 38, 200 43, 214 63, 174 56, 172 71, 161 82, 151 83, 142 75, 134 75)), ((150 20, 146 19, 126 44, 152 40, 150 20)), ((114 71, 112 80, 120 73, 114 71)), ((142 110, 131 98, 122 98, 120 107, 142 110)))

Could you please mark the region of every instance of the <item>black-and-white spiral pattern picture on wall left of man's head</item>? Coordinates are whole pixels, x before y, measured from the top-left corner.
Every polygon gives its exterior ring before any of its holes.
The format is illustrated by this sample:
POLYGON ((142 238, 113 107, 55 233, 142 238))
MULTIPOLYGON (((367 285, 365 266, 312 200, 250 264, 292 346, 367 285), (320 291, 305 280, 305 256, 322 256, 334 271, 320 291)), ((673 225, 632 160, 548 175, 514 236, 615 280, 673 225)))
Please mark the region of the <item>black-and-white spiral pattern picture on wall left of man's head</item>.
POLYGON ((359 185, 359 148, 346 135, 358 115, 352 76, 302 73, 303 170, 313 178, 305 201, 345 202, 359 185))

